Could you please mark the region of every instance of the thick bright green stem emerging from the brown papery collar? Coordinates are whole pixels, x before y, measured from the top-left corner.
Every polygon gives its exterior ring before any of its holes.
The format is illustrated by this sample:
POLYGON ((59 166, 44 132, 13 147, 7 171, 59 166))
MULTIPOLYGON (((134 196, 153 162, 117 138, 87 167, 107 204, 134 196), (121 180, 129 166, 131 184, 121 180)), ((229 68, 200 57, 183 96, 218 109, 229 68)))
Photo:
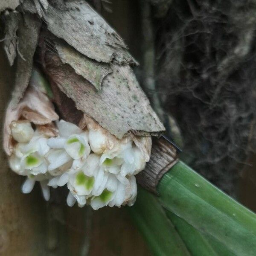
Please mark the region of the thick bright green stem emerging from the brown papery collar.
POLYGON ((256 215, 178 162, 160 180, 160 203, 235 255, 255 255, 256 215))

